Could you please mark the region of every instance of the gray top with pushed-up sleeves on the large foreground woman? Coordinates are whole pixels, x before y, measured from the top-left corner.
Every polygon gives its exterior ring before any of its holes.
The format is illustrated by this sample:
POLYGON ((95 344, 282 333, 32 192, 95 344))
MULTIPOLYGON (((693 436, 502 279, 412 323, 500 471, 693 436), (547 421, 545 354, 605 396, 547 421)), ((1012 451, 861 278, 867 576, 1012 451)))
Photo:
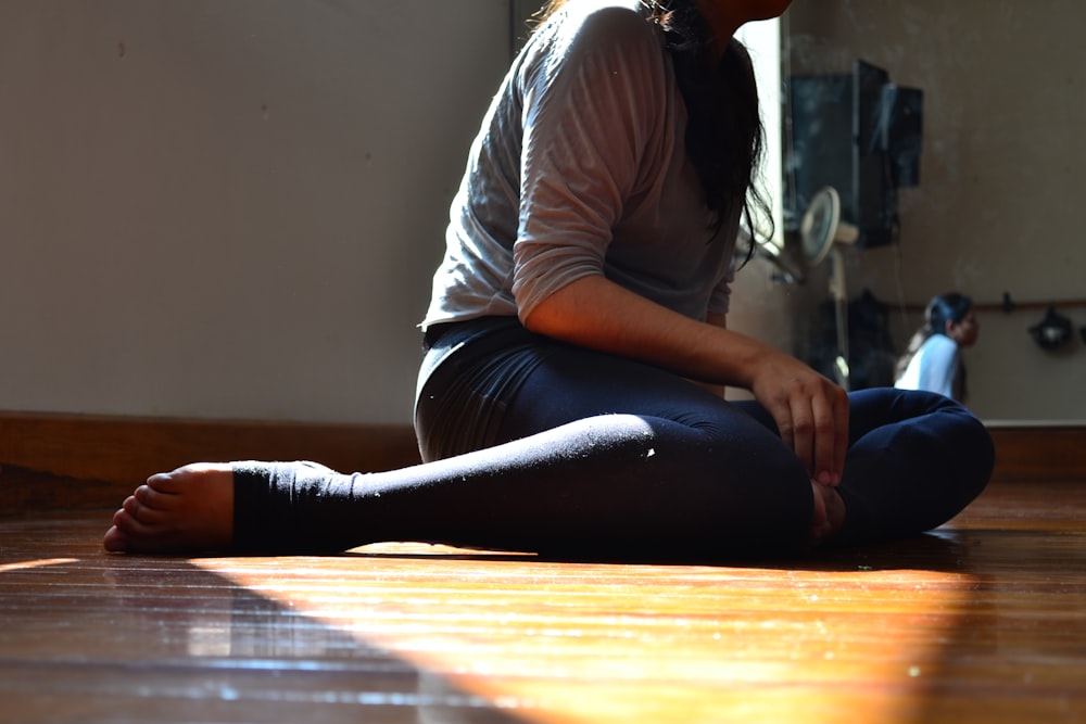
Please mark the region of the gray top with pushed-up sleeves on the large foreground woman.
POLYGON ((592 275, 689 317, 728 310, 737 218, 712 224, 670 54, 639 8, 573 0, 518 56, 472 145, 424 329, 523 319, 592 275))

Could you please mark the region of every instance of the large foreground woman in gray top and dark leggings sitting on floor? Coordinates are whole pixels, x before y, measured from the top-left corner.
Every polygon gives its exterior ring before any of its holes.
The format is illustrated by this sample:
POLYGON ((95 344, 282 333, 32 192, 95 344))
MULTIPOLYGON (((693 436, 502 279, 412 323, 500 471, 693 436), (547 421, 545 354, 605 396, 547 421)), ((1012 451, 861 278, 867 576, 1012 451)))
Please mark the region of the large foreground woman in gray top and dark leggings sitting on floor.
POLYGON ((765 559, 957 515, 994 459, 972 414, 893 388, 849 396, 725 323, 741 218, 757 228, 766 208, 734 34, 788 4, 552 0, 452 204, 421 322, 422 462, 185 466, 125 499, 105 548, 765 559))

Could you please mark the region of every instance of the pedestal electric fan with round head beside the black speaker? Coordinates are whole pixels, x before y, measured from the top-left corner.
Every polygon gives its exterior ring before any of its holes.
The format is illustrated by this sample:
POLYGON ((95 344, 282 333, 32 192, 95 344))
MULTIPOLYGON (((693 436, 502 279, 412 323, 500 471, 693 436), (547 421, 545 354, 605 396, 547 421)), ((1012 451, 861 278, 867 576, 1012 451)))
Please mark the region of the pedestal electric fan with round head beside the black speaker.
POLYGON ((811 199, 799 225, 804 256, 816 266, 829 256, 832 259, 830 295, 837 325, 837 381, 849 389, 848 370, 848 290, 845 284, 845 257, 842 249, 856 243, 859 230, 841 220, 841 195, 833 187, 820 189, 811 199))

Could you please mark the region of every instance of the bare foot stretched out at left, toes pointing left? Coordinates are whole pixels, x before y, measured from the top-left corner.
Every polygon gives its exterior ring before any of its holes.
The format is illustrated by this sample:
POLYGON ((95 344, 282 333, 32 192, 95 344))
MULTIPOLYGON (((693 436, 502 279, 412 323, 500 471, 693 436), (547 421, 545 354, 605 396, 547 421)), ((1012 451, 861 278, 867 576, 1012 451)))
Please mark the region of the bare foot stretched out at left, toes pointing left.
POLYGON ((113 516, 111 552, 227 550, 233 539, 233 469, 200 462, 151 475, 113 516))

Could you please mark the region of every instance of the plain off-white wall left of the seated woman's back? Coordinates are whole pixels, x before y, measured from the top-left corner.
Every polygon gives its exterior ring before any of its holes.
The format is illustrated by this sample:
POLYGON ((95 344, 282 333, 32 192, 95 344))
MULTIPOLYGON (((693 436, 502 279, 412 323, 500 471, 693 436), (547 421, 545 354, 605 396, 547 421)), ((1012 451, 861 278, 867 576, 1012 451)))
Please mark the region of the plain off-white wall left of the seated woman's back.
POLYGON ((506 0, 0 3, 0 409, 408 422, 508 54, 506 0))

